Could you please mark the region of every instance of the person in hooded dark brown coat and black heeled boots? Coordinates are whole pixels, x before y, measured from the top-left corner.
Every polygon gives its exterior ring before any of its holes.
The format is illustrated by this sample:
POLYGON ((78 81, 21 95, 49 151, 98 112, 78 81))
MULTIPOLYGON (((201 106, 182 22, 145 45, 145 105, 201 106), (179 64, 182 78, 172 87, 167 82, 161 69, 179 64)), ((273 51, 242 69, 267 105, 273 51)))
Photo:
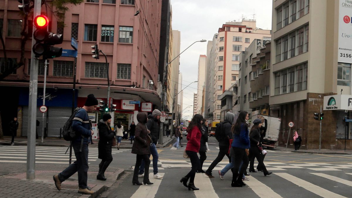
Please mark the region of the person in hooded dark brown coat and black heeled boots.
POLYGON ((149 146, 151 143, 151 139, 148 136, 150 131, 147 129, 146 122, 147 122, 147 115, 145 113, 138 113, 137 114, 137 120, 138 124, 136 125, 136 131, 135 131, 135 137, 134 137, 134 142, 132 146, 132 153, 137 154, 137 159, 136 159, 136 166, 134 166, 134 172, 133 172, 133 178, 132 178, 132 184, 133 185, 142 185, 142 183, 139 183, 138 181, 138 172, 139 172, 139 166, 142 163, 142 159, 144 161, 144 178, 143 178, 143 184, 144 185, 152 185, 149 181, 149 165, 150 165, 150 150, 149 146))

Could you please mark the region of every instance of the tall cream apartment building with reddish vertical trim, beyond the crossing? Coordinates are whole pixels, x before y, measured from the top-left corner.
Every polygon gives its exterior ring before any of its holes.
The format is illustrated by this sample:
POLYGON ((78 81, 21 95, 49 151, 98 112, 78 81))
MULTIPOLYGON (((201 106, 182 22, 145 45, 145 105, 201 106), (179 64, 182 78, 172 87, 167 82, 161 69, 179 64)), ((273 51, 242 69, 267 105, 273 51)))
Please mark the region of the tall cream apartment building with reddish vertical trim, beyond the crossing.
MULTIPOLYGON (((249 47, 254 39, 271 39, 270 30, 262 30, 256 27, 256 20, 243 19, 241 22, 228 22, 223 24, 216 35, 215 45, 210 52, 210 59, 214 60, 214 99, 213 100, 213 123, 220 122, 221 94, 238 80, 239 56, 242 51, 249 47)), ((212 61, 210 60, 210 62, 212 61)))

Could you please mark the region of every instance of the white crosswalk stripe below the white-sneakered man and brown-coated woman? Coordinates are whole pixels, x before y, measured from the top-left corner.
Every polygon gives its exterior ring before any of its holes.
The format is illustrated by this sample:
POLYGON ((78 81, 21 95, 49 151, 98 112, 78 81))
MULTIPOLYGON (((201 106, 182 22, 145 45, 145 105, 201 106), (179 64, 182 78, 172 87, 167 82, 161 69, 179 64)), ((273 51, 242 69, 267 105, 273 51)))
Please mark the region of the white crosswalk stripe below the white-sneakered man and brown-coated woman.
MULTIPOLYGON (((164 173, 159 173, 164 176, 164 173)), ((154 179, 153 173, 149 173, 149 180, 153 183, 151 186, 141 185, 138 190, 132 194, 131 198, 140 198, 140 197, 155 197, 156 192, 161 184, 163 179, 154 179)))

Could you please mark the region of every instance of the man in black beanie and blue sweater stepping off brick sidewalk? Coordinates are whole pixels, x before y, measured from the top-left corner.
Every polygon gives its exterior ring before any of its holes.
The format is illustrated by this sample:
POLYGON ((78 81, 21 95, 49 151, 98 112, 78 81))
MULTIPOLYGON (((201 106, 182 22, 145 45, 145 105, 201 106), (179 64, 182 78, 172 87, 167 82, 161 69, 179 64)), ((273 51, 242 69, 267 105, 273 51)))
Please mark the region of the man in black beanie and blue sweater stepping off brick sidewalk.
POLYGON ((93 112, 98 106, 98 100, 93 94, 89 94, 86 103, 82 109, 78 110, 72 120, 72 129, 80 136, 72 141, 72 147, 75 151, 76 161, 73 162, 61 173, 54 175, 53 179, 57 190, 61 190, 61 183, 78 172, 78 193, 94 194, 87 185, 88 180, 88 144, 90 136, 93 134, 92 124, 88 117, 88 112, 93 112), (83 138, 83 141, 82 141, 83 138))

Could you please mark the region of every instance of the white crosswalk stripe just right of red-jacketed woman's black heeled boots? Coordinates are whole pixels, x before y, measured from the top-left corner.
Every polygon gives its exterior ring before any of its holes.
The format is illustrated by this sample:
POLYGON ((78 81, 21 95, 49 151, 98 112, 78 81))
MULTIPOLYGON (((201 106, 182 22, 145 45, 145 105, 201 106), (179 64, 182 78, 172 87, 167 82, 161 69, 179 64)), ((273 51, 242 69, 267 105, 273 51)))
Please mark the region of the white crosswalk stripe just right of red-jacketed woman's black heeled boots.
POLYGON ((204 173, 196 174, 194 178, 194 185, 199 188, 199 191, 194 191, 196 197, 212 197, 219 198, 219 196, 215 193, 214 187, 210 178, 206 176, 204 173))

